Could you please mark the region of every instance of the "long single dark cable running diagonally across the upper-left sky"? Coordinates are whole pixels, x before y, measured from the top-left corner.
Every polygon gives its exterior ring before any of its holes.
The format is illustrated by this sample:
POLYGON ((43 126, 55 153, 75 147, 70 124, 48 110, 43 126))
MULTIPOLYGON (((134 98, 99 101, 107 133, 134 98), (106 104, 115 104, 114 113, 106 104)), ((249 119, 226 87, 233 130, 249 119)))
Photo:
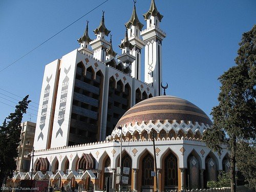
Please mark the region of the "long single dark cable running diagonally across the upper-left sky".
POLYGON ((33 52, 34 50, 36 50, 38 47, 44 45, 47 41, 49 41, 50 39, 52 39, 53 37, 55 37, 56 35, 58 35, 59 33, 61 33, 62 31, 64 31, 65 29, 67 29, 68 27, 72 26, 74 23, 76 23, 78 20, 80 20, 82 17, 88 15, 89 13, 91 13, 92 11, 94 11, 95 9, 97 9, 98 7, 100 7, 101 5, 103 5, 104 3, 108 2, 109 0, 104 1, 103 3, 101 3, 100 5, 96 6, 95 8, 93 8, 91 11, 87 12, 86 14, 84 14, 83 16, 81 16, 80 18, 76 19, 73 23, 71 23, 70 25, 68 25, 67 27, 63 28, 62 30, 60 30, 59 32, 55 33, 53 36, 51 36, 50 38, 48 38, 47 40, 45 40, 44 42, 42 42, 40 45, 36 46, 34 49, 32 49, 31 51, 29 51, 28 53, 26 53, 25 55, 23 55, 22 57, 19 57, 18 59, 16 59, 15 61, 13 61, 12 63, 10 63, 8 66, 6 66, 4 69, 2 69, 0 71, 0 73, 2 71, 4 71, 5 69, 7 69, 8 67, 12 66, 14 63, 16 63, 17 61, 19 61, 20 59, 22 59, 23 57, 27 56, 28 54, 30 54, 31 52, 33 52))

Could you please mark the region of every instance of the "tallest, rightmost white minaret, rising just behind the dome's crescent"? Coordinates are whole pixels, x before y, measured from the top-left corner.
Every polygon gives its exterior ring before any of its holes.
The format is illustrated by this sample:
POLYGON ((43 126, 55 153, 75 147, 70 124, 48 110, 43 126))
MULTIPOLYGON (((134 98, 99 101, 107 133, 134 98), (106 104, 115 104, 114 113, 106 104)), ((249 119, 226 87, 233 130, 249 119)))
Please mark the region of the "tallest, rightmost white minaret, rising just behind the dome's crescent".
POLYGON ((155 96, 162 95, 162 40, 166 36, 160 29, 160 22, 163 18, 157 11, 155 1, 151 1, 150 10, 144 15, 146 29, 141 32, 145 41, 145 76, 144 80, 152 84, 155 96))

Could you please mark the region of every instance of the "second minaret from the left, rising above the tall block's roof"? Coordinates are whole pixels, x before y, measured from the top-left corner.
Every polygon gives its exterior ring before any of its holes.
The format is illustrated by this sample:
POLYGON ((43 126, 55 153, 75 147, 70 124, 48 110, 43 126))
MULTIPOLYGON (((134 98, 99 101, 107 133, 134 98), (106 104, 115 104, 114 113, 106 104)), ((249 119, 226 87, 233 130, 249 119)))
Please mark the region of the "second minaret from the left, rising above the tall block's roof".
POLYGON ((93 49, 93 57, 104 62, 106 59, 106 49, 110 47, 110 42, 105 39, 105 36, 109 36, 110 31, 106 29, 104 23, 104 11, 102 11, 102 18, 100 25, 94 30, 96 39, 90 42, 93 49))

